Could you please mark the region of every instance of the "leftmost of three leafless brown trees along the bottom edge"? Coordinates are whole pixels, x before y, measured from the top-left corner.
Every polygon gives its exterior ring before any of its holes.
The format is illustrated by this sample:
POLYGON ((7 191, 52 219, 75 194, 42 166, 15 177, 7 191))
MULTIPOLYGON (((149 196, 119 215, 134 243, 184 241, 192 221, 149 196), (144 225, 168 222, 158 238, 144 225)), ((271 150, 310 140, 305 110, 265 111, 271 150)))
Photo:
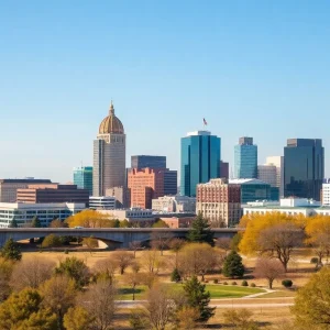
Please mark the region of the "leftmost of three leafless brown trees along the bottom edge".
POLYGON ((75 305, 75 280, 67 276, 54 276, 41 286, 41 293, 44 297, 42 305, 56 315, 58 328, 63 329, 64 315, 75 305))

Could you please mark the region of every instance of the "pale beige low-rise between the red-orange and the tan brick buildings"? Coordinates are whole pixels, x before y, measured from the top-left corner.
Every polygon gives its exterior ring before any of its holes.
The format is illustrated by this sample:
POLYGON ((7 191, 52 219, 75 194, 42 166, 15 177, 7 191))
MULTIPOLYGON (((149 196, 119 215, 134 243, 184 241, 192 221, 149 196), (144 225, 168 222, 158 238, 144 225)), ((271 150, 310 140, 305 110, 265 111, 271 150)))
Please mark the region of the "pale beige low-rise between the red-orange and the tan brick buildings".
POLYGON ((152 209, 161 212, 195 212, 196 198, 188 196, 163 196, 152 200, 152 209))

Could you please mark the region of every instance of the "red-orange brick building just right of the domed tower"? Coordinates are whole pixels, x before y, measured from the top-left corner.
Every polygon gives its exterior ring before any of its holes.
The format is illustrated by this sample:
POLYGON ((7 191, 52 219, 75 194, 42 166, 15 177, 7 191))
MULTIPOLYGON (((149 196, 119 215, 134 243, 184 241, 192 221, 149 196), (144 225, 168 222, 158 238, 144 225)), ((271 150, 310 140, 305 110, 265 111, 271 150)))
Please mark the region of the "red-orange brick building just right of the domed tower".
POLYGON ((131 207, 152 208, 152 199, 164 196, 164 169, 132 168, 128 174, 131 207))

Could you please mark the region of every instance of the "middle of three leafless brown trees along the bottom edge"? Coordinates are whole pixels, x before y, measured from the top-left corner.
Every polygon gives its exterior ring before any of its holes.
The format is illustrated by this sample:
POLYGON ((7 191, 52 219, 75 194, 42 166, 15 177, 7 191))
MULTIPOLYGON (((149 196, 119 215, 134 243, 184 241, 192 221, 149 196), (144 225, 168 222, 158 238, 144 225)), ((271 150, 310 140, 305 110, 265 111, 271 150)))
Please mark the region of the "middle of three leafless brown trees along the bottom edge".
POLYGON ((79 305, 94 317, 92 329, 110 329, 116 312, 116 294, 117 289, 110 280, 100 279, 80 297, 79 305))

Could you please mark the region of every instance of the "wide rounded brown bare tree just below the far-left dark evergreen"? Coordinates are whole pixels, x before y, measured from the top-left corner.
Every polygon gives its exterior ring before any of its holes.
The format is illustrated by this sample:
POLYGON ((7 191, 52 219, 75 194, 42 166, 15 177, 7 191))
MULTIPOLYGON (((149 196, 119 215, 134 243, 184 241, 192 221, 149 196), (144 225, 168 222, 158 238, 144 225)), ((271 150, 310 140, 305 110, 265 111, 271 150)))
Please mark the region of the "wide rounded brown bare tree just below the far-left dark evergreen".
POLYGON ((25 287, 37 288, 43 282, 52 277, 55 263, 45 257, 34 256, 15 264, 11 286, 16 290, 25 287))

